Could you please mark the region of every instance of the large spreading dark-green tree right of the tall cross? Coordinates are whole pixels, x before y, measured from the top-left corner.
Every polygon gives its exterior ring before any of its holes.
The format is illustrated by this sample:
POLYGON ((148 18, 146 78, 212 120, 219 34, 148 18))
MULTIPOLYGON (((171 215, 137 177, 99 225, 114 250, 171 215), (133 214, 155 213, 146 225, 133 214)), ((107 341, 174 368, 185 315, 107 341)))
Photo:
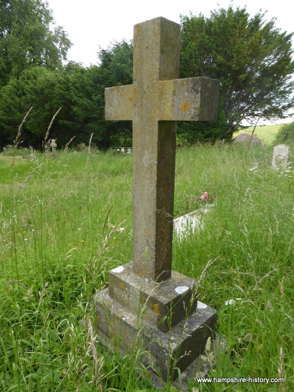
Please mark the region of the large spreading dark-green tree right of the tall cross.
POLYGON ((203 15, 181 17, 181 77, 219 79, 217 123, 179 125, 187 141, 230 139, 243 120, 287 117, 293 108, 293 34, 280 32, 264 13, 251 19, 245 8, 230 6, 203 15), (194 134, 194 136, 191 136, 194 134))

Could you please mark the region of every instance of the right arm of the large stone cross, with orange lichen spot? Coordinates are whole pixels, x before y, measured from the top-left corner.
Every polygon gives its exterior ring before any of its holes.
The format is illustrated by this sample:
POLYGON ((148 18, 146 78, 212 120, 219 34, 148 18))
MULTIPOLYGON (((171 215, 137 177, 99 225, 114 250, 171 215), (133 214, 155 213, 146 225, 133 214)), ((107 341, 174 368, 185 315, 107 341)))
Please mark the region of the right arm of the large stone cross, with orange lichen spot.
POLYGON ((207 77, 161 80, 158 120, 217 120, 220 82, 207 77))

